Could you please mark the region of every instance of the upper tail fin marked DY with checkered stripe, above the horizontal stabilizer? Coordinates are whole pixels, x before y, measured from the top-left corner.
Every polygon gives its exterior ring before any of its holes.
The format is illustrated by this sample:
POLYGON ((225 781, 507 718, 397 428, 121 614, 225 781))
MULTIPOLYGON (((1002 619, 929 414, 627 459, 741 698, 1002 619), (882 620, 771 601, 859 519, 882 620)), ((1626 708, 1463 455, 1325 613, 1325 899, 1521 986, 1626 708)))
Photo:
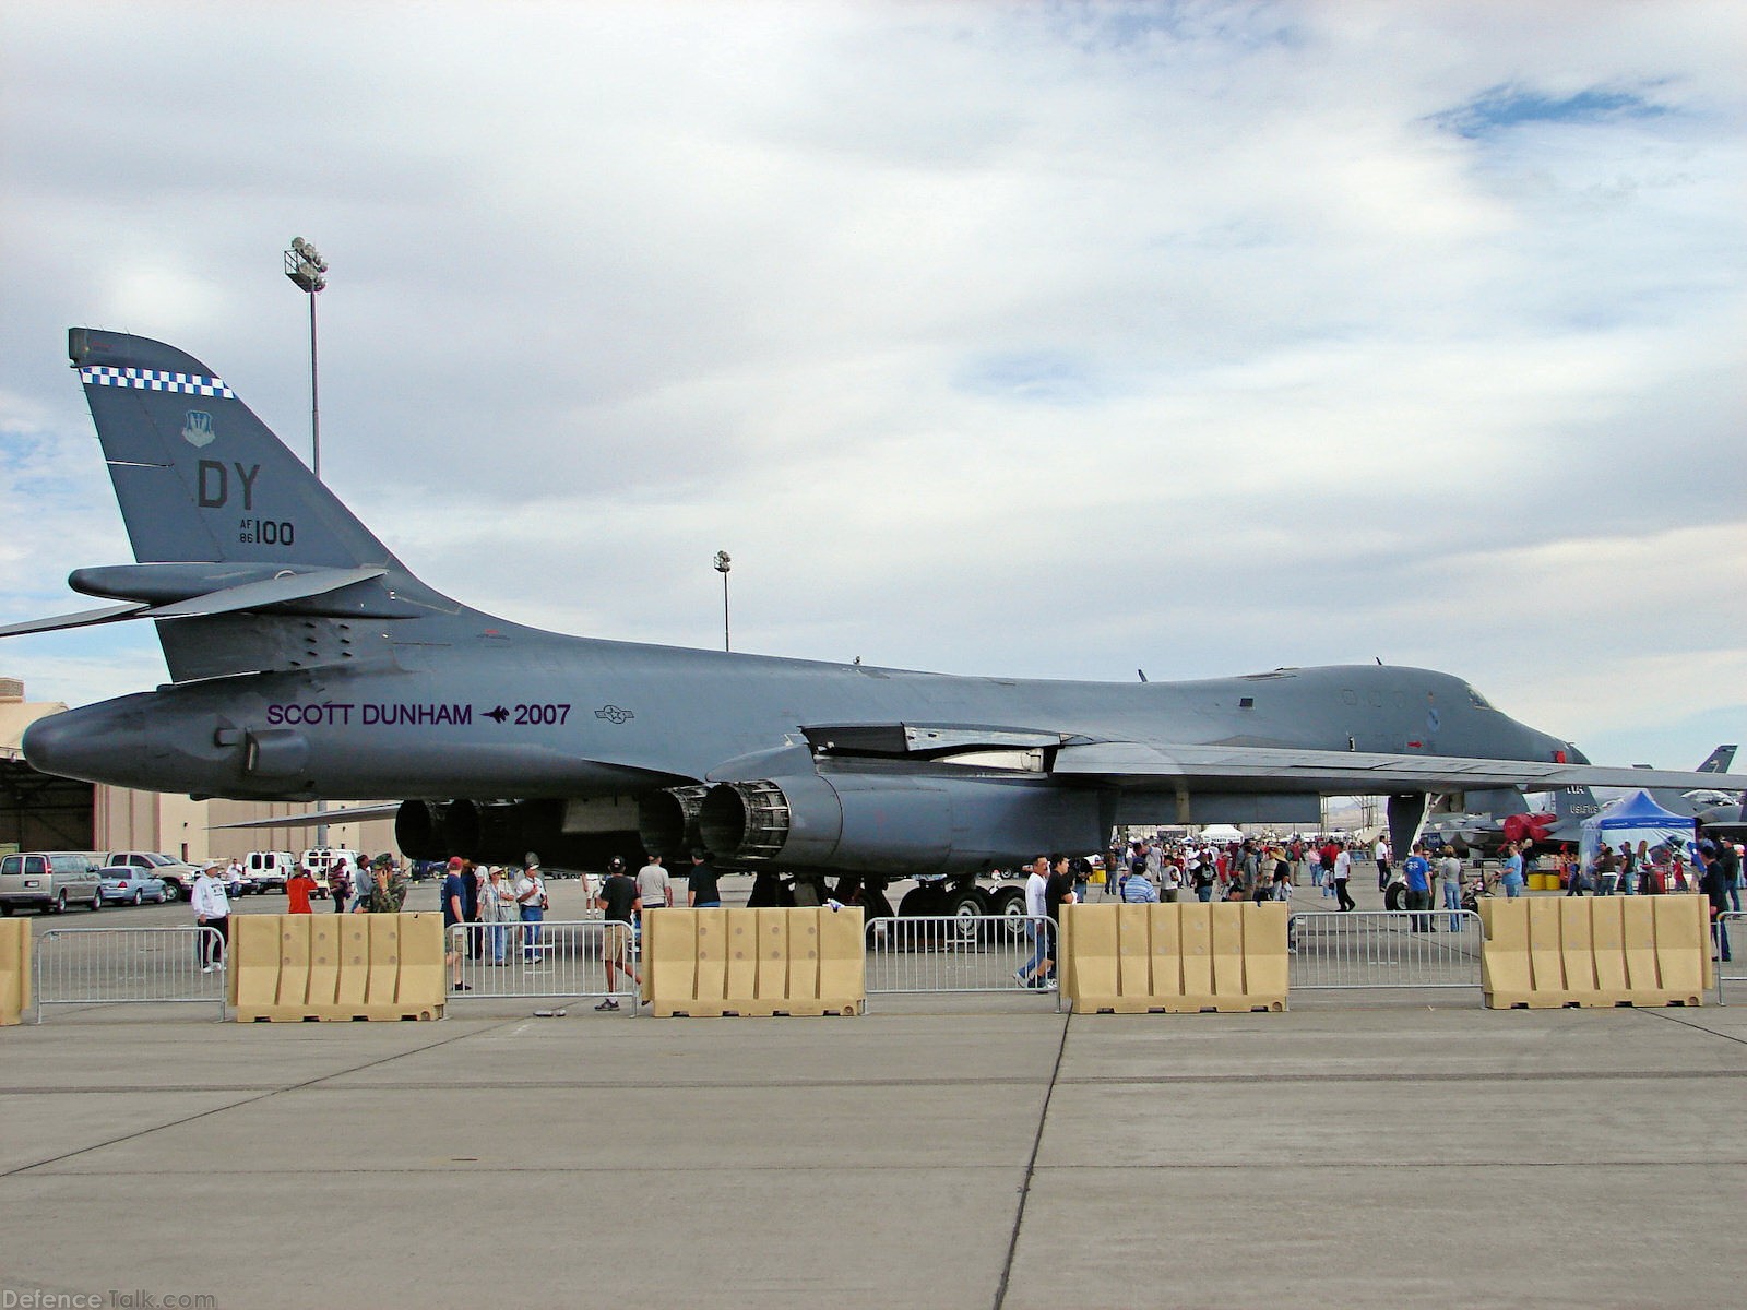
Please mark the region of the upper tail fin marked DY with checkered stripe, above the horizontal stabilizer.
POLYGON ((72 328, 128 540, 142 564, 400 562, 204 363, 161 341, 72 328))

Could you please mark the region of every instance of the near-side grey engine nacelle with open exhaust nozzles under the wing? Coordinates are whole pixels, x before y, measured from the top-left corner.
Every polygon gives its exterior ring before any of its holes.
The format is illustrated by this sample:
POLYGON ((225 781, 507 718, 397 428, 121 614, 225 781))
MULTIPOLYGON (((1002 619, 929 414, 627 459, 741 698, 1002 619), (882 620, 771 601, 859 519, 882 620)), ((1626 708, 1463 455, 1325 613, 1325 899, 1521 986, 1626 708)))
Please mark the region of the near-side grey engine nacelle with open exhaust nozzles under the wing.
POLYGON ((1101 809, 1095 791, 1038 779, 837 772, 718 783, 697 826, 730 863, 908 877, 1095 851, 1101 809))

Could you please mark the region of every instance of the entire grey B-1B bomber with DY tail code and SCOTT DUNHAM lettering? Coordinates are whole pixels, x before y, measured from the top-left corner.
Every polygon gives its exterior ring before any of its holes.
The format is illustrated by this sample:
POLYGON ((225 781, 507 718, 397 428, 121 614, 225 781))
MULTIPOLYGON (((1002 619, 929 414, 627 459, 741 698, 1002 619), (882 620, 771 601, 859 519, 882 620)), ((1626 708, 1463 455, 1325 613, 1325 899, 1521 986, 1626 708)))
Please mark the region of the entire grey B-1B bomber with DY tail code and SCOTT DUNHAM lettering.
POLYGON ((135 564, 110 604, 0 634, 150 618, 171 681, 40 720, 51 774, 196 796, 397 796, 407 856, 597 866, 692 845, 832 877, 875 907, 1010 908, 977 887, 1116 824, 1315 824, 1389 796, 1403 849, 1436 793, 1742 788, 1590 765, 1460 678, 1275 669, 1190 683, 957 678, 543 632, 416 576, 192 355, 73 328, 68 349, 135 564))

